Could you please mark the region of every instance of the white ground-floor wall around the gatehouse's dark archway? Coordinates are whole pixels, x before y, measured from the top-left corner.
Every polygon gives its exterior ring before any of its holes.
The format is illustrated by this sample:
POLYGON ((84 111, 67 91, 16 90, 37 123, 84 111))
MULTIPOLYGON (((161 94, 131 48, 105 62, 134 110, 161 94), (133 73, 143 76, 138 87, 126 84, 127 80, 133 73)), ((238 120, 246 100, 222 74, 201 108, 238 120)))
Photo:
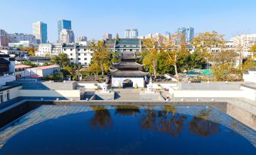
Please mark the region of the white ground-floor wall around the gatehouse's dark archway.
POLYGON ((112 78, 112 87, 119 87, 119 84, 125 81, 126 79, 130 79, 133 82, 133 87, 137 84, 138 87, 144 87, 144 79, 143 78, 112 78))

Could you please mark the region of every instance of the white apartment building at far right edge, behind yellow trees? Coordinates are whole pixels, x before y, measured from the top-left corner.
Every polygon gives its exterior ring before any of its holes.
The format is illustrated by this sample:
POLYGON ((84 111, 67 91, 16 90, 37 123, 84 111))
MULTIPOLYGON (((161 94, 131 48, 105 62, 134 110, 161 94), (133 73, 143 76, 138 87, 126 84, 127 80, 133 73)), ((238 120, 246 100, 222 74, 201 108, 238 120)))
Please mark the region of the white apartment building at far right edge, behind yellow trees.
POLYGON ((250 48, 256 44, 256 34, 237 35, 230 39, 234 45, 239 49, 242 48, 244 56, 251 56, 250 48))

